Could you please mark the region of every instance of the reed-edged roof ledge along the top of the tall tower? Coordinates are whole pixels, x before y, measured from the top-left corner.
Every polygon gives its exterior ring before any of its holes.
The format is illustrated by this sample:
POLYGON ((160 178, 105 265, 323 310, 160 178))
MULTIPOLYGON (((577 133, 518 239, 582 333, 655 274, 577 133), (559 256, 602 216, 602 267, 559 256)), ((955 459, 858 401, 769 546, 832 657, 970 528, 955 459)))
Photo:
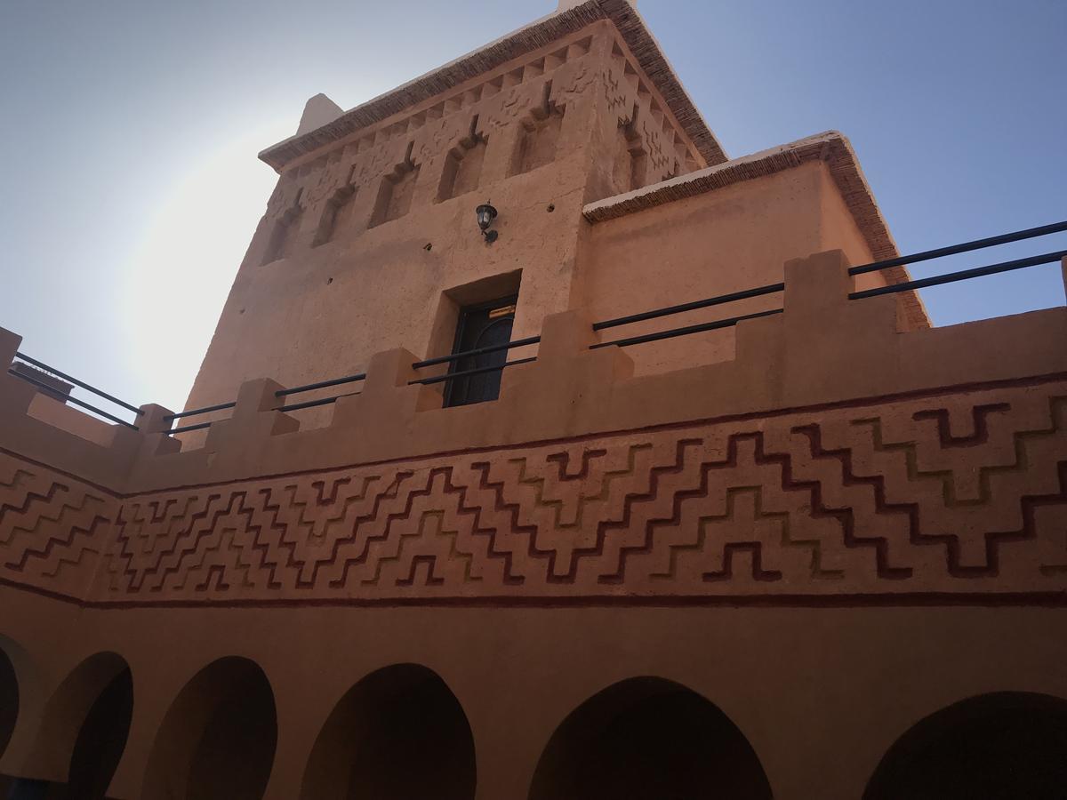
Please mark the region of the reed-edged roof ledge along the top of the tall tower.
POLYGON ((532 52, 601 19, 610 20, 619 30, 649 80, 663 95, 671 113, 704 160, 710 164, 726 161, 722 146, 686 93, 641 15, 628 0, 587 0, 573 7, 559 10, 356 106, 325 125, 278 142, 262 150, 259 159, 281 171, 293 159, 448 92, 472 78, 484 75, 512 59, 532 52))

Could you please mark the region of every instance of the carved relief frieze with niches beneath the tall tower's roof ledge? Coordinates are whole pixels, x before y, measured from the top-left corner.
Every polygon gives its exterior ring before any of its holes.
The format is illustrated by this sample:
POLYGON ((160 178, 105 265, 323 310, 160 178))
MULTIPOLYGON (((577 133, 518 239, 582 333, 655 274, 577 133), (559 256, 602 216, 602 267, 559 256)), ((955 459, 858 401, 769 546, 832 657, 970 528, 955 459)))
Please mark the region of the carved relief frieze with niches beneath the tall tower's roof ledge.
POLYGON ((616 165, 619 187, 636 189, 679 172, 675 146, 689 169, 695 166, 674 123, 657 108, 648 79, 638 75, 632 60, 617 45, 612 59, 602 64, 589 54, 591 46, 592 38, 586 36, 506 73, 488 74, 481 83, 442 97, 432 107, 413 109, 387 125, 368 127, 356 141, 287 171, 268 209, 270 228, 261 262, 293 255, 302 241, 301 215, 306 209, 319 217, 313 226, 313 246, 346 236, 356 225, 373 227, 403 217, 411 209, 420 165, 441 166, 441 173, 434 174, 436 202, 475 191, 488 131, 517 126, 513 140, 510 133, 507 138, 514 141, 509 176, 552 163, 562 116, 600 83, 605 84, 609 106, 620 118, 631 109, 638 109, 641 116, 637 122, 631 114, 620 134, 626 141, 620 145, 616 165), (472 117, 474 126, 467 132, 472 117), (487 133, 478 131, 479 117, 487 133), (397 146, 404 140, 410 143, 408 153, 398 163, 397 146), (367 191, 368 187, 375 192, 369 222, 355 219, 352 202, 361 188, 367 191), (303 201, 299 193, 296 201, 291 198, 293 190, 304 189, 303 201))

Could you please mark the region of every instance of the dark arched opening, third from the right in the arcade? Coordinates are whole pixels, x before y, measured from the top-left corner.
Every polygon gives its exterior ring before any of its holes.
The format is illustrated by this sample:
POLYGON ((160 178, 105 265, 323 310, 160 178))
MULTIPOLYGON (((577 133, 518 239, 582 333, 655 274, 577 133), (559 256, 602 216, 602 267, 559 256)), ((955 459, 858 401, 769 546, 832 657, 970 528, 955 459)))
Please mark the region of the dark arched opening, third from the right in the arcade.
POLYGON ((433 671, 397 665, 340 700, 312 750, 302 800, 471 800, 474 738, 433 671))

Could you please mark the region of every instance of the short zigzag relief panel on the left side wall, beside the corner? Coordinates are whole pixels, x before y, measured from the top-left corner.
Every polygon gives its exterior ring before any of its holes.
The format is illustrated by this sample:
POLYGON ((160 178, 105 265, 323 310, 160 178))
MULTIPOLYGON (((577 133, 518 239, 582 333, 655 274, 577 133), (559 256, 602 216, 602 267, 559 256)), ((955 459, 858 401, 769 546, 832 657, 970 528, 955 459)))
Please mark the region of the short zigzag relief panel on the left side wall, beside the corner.
POLYGON ((83 594, 116 511, 102 492, 0 453, 0 575, 83 594))

